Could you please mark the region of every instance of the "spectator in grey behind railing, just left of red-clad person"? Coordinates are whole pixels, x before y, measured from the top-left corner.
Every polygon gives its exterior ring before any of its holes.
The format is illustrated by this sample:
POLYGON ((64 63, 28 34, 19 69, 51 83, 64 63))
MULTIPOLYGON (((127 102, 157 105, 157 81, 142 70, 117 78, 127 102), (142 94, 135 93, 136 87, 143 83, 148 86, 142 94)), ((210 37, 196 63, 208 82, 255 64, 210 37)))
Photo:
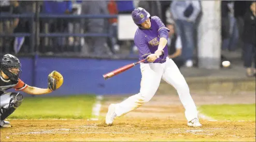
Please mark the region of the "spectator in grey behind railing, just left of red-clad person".
MULTIPOLYGON (((83 1, 82 2, 82 14, 109 14, 108 6, 106 1, 83 1)), ((84 19, 82 22, 88 33, 105 33, 105 28, 107 28, 106 19, 84 19)), ((89 46, 89 52, 94 53, 96 56, 112 56, 112 52, 107 46, 106 37, 88 37, 87 43, 89 46)))

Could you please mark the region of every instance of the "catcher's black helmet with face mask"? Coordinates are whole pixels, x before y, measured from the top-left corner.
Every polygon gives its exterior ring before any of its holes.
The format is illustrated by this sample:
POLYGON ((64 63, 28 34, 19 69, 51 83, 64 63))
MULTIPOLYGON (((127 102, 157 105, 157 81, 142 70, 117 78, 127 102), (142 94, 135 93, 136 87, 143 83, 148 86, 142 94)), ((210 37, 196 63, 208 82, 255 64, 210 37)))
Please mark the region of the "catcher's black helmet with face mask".
POLYGON ((1 64, 0 69, 8 76, 10 77, 10 80, 18 81, 21 75, 21 64, 20 60, 11 54, 5 54, 1 64), (18 68, 19 71, 13 70, 13 68, 18 68))

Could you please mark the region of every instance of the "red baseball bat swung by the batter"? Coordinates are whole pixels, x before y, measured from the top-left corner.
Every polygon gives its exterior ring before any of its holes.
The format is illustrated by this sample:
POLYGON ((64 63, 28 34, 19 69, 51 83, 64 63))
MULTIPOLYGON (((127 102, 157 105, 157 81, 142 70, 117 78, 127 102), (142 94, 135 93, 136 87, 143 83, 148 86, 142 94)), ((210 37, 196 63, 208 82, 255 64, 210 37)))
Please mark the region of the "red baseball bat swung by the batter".
POLYGON ((126 70, 131 69, 132 67, 138 65, 140 62, 144 62, 144 61, 147 60, 147 59, 148 59, 148 58, 143 59, 143 60, 140 60, 140 61, 137 61, 137 62, 134 62, 134 63, 131 63, 131 64, 129 64, 129 65, 125 65, 125 66, 123 66, 123 67, 121 67, 121 68, 118 68, 118 69, 116 69, 116 70, 113 70, 113 71, 111 71, 111 72, 109 72, 109 73, 103 74, 103 77, 104 77, 105 80, 107 80, 107 79, 110 78, 110 77, 113 77, 113 76, 115 76, 115 75, 117 75, 117 74, 119 74, 119 73, 122 73, 122 72, 124 72, 124 71, 126 71, 126 70))

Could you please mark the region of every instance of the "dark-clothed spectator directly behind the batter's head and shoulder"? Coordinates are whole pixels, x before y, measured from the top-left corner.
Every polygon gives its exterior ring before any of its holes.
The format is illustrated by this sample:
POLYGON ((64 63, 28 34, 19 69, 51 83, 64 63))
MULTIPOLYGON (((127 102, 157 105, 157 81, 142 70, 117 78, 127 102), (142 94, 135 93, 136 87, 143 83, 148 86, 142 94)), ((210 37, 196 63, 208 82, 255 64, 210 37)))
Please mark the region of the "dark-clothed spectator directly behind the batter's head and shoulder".
POLYGON ((138 7, 147 10, 152 16, 162 19, 162 10, 160 1, 139 1, 138 7))

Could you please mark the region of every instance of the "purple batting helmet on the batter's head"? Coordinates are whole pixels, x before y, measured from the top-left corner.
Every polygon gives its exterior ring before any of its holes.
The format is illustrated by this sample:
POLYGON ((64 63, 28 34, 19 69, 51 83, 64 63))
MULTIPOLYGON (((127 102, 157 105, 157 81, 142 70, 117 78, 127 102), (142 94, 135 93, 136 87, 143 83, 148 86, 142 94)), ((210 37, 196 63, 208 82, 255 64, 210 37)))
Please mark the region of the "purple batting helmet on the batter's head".
POLYGON ((150 14, 148 11, 146 11, 144 8, 138 7, 135 8, 132 12, 132 18, 133 22, 141 27, 141 23, 145 22, 150 17, 150 14))

